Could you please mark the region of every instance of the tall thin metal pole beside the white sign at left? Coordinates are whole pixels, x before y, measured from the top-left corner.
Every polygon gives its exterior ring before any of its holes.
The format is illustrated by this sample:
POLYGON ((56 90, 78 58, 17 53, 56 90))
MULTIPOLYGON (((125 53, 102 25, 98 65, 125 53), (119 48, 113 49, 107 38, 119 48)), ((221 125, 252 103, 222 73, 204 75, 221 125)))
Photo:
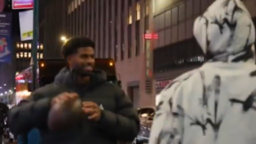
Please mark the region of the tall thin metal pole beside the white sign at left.
POLYGON ((39 0, 34 0, 34 11, 33 11, 33 44, 32 44, 32 61, 33 61, 33 88, 36 90, 36 77, 37 77, 37 41, 38 41, 38 17, 39 17, 39 0))

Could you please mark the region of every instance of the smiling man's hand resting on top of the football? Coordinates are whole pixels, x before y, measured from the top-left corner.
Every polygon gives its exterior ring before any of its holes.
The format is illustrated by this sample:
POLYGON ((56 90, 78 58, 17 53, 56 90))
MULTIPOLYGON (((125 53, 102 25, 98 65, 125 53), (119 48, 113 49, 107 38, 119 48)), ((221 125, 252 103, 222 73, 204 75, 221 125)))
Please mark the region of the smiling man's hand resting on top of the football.
POLYGON ((64 103, 67 100, 76 100, 77 98, 78 95, 74 92, 63 92, 52 99, 52 106, 54 106, 55 104, 64 103))

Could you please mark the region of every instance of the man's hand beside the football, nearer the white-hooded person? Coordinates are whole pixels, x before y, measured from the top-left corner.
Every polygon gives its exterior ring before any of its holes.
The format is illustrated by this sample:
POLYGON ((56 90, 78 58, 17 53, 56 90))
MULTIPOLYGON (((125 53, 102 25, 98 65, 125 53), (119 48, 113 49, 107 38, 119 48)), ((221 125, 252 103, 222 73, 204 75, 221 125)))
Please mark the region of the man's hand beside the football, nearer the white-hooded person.
POLYGON ((101 109, 100 107, 92 102, 92 101, 84 101, 83 102, 83 110, 88 118, 94 122, 98 122, 101 116, 101 109))

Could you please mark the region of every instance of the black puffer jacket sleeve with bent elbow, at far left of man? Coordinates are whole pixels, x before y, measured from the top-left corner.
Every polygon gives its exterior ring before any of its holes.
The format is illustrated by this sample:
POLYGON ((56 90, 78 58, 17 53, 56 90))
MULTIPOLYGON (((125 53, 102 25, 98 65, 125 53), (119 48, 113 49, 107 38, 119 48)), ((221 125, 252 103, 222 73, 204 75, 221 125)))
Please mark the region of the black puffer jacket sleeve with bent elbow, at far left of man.
POLYGON ((45 98, 40 92, 33 92, 28 103, 15 106, 9 111, 8 124, 11 132, 20 135, 34 127, 41 128, 46 123, 50 104, 50 98, 45 98))

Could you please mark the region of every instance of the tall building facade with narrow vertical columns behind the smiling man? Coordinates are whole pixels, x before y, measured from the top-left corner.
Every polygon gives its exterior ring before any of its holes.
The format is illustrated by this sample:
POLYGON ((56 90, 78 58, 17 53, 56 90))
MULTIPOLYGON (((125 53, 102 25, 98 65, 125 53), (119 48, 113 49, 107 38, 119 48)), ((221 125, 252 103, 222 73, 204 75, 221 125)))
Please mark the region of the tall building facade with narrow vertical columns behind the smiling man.
POLYGON ((44 58, 61 58, 61 36, 88 36, 96 43, 97 58, 116 60, 118 77, 134 105, 154 104, 153 92, 146 92, 143 38, 150 2, 52 0, 44 12, 44 58))

